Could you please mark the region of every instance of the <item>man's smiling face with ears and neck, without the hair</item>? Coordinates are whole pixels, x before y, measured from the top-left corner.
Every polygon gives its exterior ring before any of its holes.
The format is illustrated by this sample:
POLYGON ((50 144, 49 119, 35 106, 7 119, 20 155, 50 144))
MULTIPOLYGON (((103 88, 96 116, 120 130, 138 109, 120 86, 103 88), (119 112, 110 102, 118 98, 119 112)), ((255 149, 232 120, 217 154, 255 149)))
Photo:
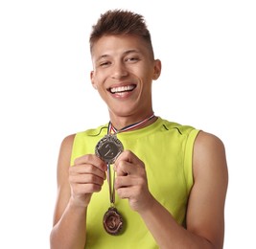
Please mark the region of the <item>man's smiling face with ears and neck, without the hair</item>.
POLYGON ((151 82, 158 79, 160 60, 147 42, 133 35, 105 35, 92 48, 93 86, 108 106, 110 120, 141 121, 152 113, 151 82))

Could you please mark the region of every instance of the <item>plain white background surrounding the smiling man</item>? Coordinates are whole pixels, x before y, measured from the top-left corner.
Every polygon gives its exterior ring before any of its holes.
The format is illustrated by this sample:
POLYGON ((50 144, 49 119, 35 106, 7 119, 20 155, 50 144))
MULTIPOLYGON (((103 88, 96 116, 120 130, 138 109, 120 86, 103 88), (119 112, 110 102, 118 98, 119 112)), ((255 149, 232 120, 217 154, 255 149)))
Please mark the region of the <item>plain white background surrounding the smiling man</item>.
POLYGON ((114 8, 146 17, 163 64, 155 114, 225 144, 224 248, 256 248, 256 8, 246 0, 0 2, 0 248, 49 248, 59 145, 108 121, 88 36, 114 8))

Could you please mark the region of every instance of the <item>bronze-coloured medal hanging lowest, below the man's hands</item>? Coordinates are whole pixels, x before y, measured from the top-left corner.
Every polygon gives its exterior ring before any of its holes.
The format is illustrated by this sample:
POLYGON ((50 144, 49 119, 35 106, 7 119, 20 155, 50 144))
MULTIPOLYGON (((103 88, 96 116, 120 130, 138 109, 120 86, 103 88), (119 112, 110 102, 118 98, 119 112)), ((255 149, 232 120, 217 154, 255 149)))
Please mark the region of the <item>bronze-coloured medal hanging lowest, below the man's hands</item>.
POLYGON ((118 235, 123 228, 123 218, 116 208, 109 208, 104 215, 104 228, 106 233, 111 236, 118 235))

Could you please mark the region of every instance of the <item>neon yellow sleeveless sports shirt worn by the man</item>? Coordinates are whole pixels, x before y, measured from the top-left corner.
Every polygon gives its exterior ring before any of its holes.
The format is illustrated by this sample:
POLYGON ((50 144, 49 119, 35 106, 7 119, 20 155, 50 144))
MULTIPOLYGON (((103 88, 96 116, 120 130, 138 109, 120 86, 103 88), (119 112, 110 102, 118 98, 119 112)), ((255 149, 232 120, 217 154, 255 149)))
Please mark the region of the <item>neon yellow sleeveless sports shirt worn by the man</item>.
MULTIPOLYGON (((81 155, 94 153, 97 143, 107 133, 107 125, 77 133, 71 166, 81 155)), ((185 226, 187 201, 193 185, 192 154, 198 129, 158 118, 153 124, 118 134, 125 149, 135 153, 145 164, 152 195, 185 226)), ((127 199, 115 196, 115 207, 121 213, 125 227, 118 236, 110 236, 103 227, 108 210, 108 184, 93 193, 87 208, 85 248, 158 248, 140 215, 129 208, 127 199)))

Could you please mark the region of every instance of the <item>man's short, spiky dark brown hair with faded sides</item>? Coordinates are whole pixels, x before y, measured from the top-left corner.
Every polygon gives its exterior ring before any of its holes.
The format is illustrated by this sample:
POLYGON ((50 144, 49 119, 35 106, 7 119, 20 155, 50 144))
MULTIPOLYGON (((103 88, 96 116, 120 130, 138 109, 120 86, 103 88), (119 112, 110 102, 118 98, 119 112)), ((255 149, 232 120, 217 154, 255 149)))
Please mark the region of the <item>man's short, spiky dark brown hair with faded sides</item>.
POLYGON ((101 14, 97 23, 92 26, 90 50, 92 51, 94 43, 101 37, 111 34, 130 34, 143 38, 149 44, 153 56, 151 34, 141 14, 123 10, 110 10, 101 14))

